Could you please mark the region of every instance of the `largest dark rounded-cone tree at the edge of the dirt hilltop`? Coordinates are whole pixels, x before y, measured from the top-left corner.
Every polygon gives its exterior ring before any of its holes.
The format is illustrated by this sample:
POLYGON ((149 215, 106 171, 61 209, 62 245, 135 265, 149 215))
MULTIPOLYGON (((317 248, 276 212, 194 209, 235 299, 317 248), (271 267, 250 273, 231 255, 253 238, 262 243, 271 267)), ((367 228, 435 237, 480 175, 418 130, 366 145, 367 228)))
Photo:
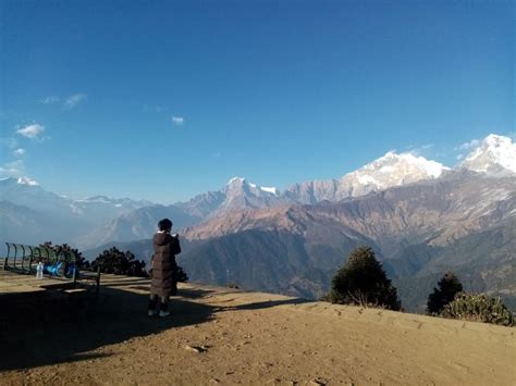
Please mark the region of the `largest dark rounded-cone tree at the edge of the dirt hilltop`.
POLYGON ((329 299, 332 303, 401 309, 396 288, 370 247, 356 248, 349 254, 347 262, 332 278, 329 299))

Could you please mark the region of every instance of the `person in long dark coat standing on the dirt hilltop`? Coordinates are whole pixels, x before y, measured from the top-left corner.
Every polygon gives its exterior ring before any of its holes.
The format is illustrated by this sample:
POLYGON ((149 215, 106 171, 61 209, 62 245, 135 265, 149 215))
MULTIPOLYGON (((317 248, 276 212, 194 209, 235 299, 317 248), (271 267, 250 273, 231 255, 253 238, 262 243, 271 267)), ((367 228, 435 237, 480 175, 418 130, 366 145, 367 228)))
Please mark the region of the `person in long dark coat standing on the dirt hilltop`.
POLYGON ((151 269, 152 278, 150 281, 150 299, 148 315, 158 313, 168 316, 169 297, 177 294, 177 264, 175 254, 181 253, 179 235, 171 235, 172 222, 163 219, 158 223, 158 233, 152 238, 155 253, 152 254, 151 269))

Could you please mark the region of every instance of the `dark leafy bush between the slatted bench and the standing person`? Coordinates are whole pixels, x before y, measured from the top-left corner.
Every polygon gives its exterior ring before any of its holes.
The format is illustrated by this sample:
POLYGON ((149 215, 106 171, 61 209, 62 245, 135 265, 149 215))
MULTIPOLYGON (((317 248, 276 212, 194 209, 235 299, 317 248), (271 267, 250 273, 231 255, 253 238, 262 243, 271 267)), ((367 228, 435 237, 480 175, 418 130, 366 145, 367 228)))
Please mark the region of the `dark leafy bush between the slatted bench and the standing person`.
POLYGON ((102 273, 148 277, 145 261, 136 260, 133 252, 122 252, 116 247, 105 250, 91 262, 93 270, 97 270, 99 266, 102 273))

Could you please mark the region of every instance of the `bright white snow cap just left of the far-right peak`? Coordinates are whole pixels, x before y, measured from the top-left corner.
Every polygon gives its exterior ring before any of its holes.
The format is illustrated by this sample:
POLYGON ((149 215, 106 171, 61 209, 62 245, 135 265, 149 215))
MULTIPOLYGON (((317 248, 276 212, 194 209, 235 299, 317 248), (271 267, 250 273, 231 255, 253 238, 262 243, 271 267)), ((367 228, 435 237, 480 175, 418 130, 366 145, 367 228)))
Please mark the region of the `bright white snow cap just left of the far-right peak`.
POLYGON ((346 174, 341 180, 385 189, 392 186, 440 177, 450 169, 413 153, 389 151, 364 167, 346 174))

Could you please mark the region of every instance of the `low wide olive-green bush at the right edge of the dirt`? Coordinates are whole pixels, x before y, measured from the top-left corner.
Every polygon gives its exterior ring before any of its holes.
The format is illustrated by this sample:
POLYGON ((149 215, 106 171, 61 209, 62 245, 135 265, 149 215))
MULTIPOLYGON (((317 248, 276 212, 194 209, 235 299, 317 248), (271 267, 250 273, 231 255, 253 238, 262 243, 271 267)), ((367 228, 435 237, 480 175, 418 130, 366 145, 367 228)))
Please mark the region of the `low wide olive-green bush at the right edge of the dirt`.
POLYGON ((451 303, 444 306, 442 315, 503 326, 516 325, 513 313, 503 301, 499 297, 491 297, 486 294, 457 294, 451 303))

